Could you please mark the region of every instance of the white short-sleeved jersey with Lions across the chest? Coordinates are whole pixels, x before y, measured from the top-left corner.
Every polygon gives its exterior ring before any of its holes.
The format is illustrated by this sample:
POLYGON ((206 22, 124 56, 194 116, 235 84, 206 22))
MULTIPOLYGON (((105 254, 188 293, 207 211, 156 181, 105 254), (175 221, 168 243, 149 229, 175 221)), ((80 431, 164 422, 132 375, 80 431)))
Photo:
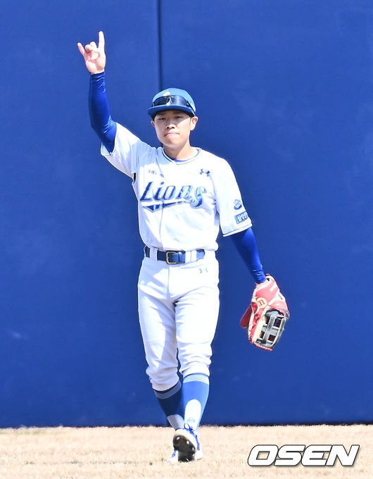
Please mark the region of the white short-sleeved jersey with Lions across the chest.
POLYGON ((132 178, 148 247, 216 250, 219 228, 228 236, 251 226, 227 161, 197 151, 189 160, 174 160, 118 123, 113 152, 101 146, 101 154, 132 178))

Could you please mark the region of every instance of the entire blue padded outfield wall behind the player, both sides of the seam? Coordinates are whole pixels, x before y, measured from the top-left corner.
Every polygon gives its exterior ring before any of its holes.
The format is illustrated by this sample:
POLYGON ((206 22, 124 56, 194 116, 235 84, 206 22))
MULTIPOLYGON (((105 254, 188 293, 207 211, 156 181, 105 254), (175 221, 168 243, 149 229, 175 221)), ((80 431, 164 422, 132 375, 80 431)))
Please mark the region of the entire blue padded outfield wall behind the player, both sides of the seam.
POLYGON ((203 422, 373 420, 372 19, 365 0, 2 6, 0 427, 164 423, 137 321, 136 201, 89 125, 76 43, 99 30, 112 116, 141 139, 156 144, 158 89, 194 97, 192 142, 231 163, 289 301, 277 349, 249 347, 253 280, 220 237, 203 422))

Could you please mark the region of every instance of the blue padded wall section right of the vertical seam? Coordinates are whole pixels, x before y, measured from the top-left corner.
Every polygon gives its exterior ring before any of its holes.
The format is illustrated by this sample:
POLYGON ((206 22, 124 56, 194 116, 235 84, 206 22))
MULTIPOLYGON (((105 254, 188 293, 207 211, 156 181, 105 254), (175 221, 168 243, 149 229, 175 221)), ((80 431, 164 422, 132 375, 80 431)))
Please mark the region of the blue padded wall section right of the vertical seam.
POLYGON ((273 353, 245 347, 237 318, 253 285, 222 239, 205 421, 372 421, 372 324, 358 326, 372 305, 372 6, 171 4, 164 86, 194 97, 194 142, 232 164, 265 270, 291 309, 273 353))

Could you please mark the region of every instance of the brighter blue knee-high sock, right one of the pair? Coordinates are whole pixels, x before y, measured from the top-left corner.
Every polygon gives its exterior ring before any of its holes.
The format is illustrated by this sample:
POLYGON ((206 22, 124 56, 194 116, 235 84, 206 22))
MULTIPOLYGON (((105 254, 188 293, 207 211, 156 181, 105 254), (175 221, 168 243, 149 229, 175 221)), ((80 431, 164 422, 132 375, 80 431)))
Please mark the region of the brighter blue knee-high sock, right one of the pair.
POLYGON ((189 374, 185 376, 182 386, 184 403, 184 423, 197 430, 206 406, 209 390, 208 376, 189 374))

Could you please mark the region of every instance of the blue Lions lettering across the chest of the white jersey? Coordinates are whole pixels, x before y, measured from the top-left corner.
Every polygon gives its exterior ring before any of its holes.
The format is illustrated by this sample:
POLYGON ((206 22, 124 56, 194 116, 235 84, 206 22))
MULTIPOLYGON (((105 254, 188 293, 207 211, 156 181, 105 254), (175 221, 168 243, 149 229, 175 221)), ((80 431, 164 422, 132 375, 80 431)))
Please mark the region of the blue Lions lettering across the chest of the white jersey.
POLYGON ((164 181, 160 182, 160 185, 157 186, 158 185, 154 185, 153 181, 149 181, 140 198, 142 206, 151 211, 157 211, 166 206, 172 206, 173 204, 179 203, 189 203, 193 208, 198 208, 198 206, 201 206, 202 204, 203 194, 207 192, 207 189, 204 186, 165 185, 164 181), (162 203, 146 204, 150 201, 161 201, 162 203), (170 202, 164 203, 164 201, 170 202))

